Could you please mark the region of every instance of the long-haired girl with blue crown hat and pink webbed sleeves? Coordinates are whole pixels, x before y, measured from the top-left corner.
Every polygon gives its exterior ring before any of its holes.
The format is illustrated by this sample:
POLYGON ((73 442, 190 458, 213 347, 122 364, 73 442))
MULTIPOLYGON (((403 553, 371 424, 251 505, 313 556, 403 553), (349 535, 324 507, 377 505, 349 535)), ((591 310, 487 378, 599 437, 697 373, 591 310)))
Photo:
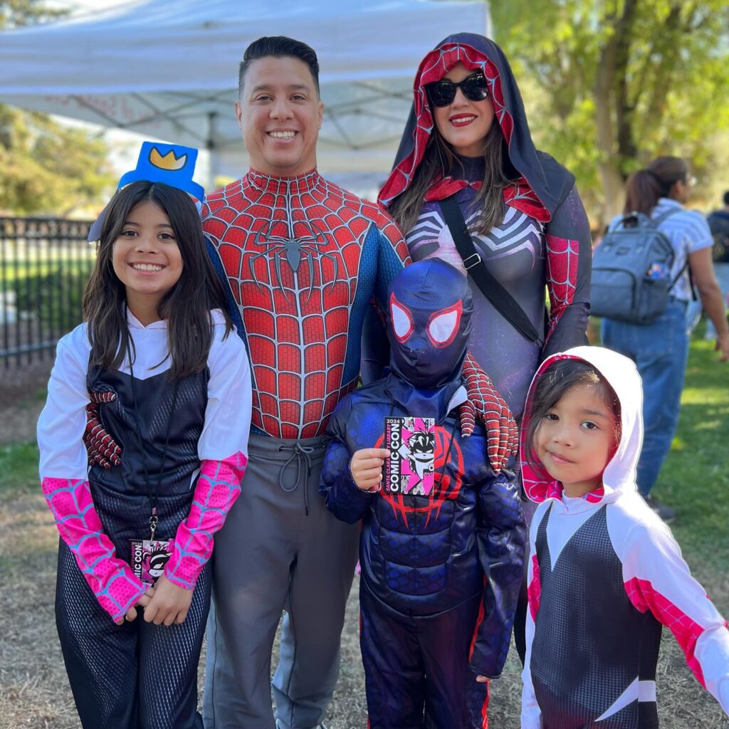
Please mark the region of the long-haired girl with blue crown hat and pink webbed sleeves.
POLYGON ((204 198, 196 155, 145 142, 92 227, 85 321, 58 343, 38 424, 61 533, 56 622, 85 729, 203 726, 208 561, 246 469, 251 378, 190 197, 204 198), (117 467, 87 464, 90 393, 117 467))

